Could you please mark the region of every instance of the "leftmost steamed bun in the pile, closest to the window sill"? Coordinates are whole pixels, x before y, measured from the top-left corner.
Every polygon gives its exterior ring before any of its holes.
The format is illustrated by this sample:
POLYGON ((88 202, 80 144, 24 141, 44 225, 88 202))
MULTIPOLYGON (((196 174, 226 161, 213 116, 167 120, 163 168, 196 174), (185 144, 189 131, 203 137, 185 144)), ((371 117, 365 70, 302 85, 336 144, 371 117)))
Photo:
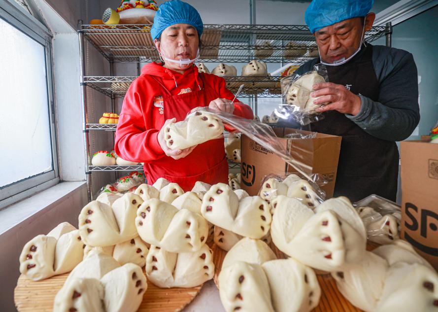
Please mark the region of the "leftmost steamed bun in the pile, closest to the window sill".
POLYGON ((83 258, 79 231, 63 222, 47 235, 26 243, 20 255, 20 273, 33 280, 70 272, 83 258))

